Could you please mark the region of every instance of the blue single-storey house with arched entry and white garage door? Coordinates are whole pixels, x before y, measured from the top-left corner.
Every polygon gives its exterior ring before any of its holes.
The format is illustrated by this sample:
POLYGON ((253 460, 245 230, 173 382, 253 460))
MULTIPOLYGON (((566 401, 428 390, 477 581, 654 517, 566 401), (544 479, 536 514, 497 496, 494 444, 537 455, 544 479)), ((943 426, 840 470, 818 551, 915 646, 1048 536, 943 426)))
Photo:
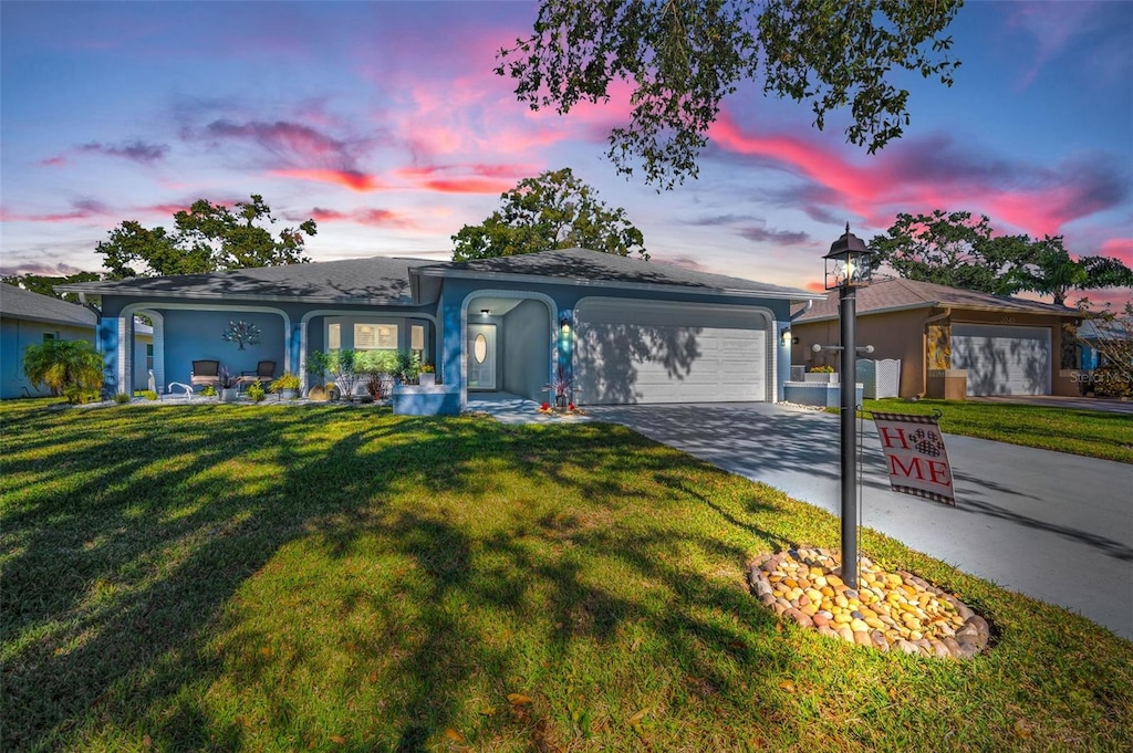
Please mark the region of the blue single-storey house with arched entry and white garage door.
POLYGON ((318 350, 411 350, 451 394, 547 400, 561 366, 580 404, 776 401, 802 290, 582 249, 431 263, 375 257, 202 275, 66 285, 102 297, 100 341, 112 391, 137 387, 135 314, 154 323, 159 386, 189 382, 194 360, 232 371, 276 362, 306 383, 318 350), (259 334, 240 350, 222 333, 259 334))

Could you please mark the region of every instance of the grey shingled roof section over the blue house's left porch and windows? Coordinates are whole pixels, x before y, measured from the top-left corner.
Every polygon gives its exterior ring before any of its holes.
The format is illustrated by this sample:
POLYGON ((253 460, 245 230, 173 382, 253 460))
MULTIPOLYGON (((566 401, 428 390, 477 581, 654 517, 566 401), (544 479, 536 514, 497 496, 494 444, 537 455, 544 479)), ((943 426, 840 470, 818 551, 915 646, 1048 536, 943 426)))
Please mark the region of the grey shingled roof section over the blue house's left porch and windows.
POLYGON ((300 300, 304 302, 411 306, 409 269, 425 259, 374 256, 211 274, 83 282, 57 290, 146 298, 300 300))

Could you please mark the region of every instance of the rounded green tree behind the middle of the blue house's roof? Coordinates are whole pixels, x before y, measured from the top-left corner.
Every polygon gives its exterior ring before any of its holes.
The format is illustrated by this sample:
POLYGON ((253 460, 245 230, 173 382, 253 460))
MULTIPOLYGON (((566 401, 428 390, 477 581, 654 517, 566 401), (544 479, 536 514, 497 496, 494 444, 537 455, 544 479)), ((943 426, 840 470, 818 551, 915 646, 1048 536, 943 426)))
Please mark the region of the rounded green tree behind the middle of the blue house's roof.
POLYGON ((503 206, 478 225, 465 225, 452 240, 455 262, 533 254, 552 248, 648 259, 645 237, 625 219, 625 209, 610 208, 598 192, 574 177, 570 168, 526 178, 500 195, 503 206))

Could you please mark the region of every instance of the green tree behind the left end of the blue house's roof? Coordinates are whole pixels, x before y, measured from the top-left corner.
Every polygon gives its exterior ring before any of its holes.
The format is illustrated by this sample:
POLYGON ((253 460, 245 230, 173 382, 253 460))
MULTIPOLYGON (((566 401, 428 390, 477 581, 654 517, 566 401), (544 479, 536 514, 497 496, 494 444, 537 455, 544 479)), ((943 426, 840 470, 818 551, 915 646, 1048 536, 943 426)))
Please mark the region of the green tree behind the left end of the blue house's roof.
POLYGON ((188 211, 173 215, 172 233, 127 220, 95 250, 114 280, 309 262, 303 256, 304 236, 315 234, 315 221, 273 236, 269 226, 275 222, 271 207, 257 194, 250 202, 238 202, 235 211, 198 199, 188 211))

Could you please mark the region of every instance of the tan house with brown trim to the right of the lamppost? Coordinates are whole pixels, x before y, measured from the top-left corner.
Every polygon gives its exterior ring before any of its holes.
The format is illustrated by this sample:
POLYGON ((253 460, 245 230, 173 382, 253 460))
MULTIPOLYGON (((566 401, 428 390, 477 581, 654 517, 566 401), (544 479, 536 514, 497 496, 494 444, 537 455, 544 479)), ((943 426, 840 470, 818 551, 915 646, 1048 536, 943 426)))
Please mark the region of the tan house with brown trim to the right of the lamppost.
MULTIPOLYGON (((884 280, 858 290, 862 358, 901 360, 901 396, 934 392, 930 379, 966 371, 968 395, 1076 395, 1074 341, 1064 326, 1081 311, 913 280, 884 280)), ((832 292, 791 325, 792 361, 837 365, 838 294, 832 292)), ((957 375, 959 378, 959 375, 957 375)))

